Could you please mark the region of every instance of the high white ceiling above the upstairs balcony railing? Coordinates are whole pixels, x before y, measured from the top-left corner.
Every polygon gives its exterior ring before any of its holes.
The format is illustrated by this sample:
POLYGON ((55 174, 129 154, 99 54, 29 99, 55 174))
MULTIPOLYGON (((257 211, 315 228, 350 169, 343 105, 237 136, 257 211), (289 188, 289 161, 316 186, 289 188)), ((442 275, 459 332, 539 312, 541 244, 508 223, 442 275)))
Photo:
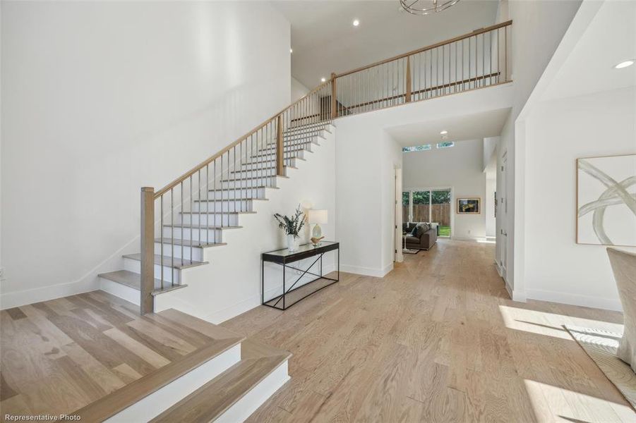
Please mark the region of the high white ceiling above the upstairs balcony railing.
POLYGON ((306 87, 342 73, 493 25, 497 0, 462 0, 414 16, 397 0, 272 1, 292 24, 292 75, 306 87), (352 21, 360 25, 354 27, 352 21))

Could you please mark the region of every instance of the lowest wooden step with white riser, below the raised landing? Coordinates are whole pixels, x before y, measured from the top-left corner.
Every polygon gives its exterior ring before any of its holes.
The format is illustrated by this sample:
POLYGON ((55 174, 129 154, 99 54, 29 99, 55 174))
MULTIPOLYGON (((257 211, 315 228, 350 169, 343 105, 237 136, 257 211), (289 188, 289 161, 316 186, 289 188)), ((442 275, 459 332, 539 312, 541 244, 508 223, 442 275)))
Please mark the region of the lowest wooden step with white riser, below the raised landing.
POLYGON ((241 344, 240 362, 151 422, 242 422, 289 380, 287 360, 291 355, 247 339, 241 344))

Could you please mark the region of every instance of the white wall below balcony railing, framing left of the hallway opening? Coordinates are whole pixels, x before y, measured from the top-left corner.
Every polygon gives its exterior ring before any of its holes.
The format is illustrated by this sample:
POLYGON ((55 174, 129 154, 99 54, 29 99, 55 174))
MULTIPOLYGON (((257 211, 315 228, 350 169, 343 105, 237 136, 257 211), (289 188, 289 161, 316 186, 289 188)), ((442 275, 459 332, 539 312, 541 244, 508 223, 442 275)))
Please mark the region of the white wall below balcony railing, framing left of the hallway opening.
MULTIPOLYGON (((337 233, 342 270, 383 276, 392 268, 392 168, 400 167, 400 145, 390 128, 460 118, 510 107, 512 85, 414 102, 335 121, 337 233)), ((476 152, 481 173, 481 144, 476 152)), ((483 235, 482 235, 483 236, 483 235)))

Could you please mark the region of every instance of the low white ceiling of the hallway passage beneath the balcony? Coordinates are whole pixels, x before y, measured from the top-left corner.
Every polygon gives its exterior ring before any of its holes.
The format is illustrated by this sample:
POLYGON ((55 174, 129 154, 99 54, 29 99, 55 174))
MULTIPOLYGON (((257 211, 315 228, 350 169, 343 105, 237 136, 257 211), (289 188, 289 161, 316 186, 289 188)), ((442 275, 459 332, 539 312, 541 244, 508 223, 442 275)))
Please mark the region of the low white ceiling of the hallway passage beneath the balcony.
POLYGON ((448 140, 475 140, 500 135, 510 108, 485 111, 457 118, 443 118, 409 125, 394 126, 387 132, 402 147, 442 142, 440 132, 448 130, 448 140))

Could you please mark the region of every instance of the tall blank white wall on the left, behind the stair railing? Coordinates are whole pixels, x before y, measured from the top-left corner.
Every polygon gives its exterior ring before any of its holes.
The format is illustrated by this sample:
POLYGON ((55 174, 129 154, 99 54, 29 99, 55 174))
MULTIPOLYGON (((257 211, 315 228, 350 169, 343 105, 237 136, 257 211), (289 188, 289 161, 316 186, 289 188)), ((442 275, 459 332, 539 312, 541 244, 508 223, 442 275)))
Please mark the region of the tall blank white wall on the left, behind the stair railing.
POLYGON ((95 288, 161 188, 289 103, 265 2, 2 4, 3 298, 95 288), (32 290, 32 291, 28 291, 32 290))

